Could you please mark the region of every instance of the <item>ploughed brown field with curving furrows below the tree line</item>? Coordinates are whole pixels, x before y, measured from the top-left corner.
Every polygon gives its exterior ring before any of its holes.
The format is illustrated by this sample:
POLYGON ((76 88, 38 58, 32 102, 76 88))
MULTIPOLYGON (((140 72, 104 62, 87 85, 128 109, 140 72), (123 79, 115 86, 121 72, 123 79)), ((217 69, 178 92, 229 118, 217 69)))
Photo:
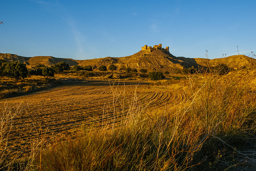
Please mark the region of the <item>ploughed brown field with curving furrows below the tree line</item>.
MULTIPOLYGON (((119 99, 133 100, 135 92, 138 99, 154 100, 156 105, 164 106, 174 98, 170 90, 150 88, 148 82, 92 81, 3 99, 0 107, 2 110, 7 106, 12 112, 19 111, 9 136, 10 142, 16 141, 12 144, 16 149, 29 146, 40 127, 48 137, 68 134, 74 126, 102 118, 103 110, 113 104, 113 94, 115 97, 120 94, 119 99)), ((118 101, 115 102, 117 108, 121 106, 118 101)))

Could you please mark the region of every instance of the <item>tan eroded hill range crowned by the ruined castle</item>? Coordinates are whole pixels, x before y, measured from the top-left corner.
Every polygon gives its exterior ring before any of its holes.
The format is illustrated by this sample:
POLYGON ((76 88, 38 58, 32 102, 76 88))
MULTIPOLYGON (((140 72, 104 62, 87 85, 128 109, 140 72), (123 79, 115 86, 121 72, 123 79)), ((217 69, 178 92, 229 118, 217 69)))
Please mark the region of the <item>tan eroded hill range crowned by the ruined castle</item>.
POLYGON ((245 55, 234 55, 224 58, 216 59, 205 59, 205 58, 187 58, 187 57, 176 57, 169 52, 169 47, 162 48, 162 44, 154 45, 148 47, 145 45, 141 47, 141 50, 131 56, 124 57, 104 57, 88 60, 75 60, 70 58, 56 58, 53 56, 34 56, 34 57, 24 57, 15 54, 3 54, 0 53, 0 59, 4 59, 8 62, 20 61, 25 63, 28 67, 33 67, 38 63, 44 64, 46 66, 53 65, 60 61, 68 63, 69 66, 74 65, 92 65, 99 67, 100 65, 111 65, 114 64, 118 68, 121 66, 130 68, 146 68, 149 71, 152 69, 156 70, 170 70, 174 68, 183 67, 204 67, 204 66, 216 66, 220 63, 226 64, 228 67, 232 68, 242 68, 248 67, 252 68, 256 65, 256 59, 245 56, 245 55))

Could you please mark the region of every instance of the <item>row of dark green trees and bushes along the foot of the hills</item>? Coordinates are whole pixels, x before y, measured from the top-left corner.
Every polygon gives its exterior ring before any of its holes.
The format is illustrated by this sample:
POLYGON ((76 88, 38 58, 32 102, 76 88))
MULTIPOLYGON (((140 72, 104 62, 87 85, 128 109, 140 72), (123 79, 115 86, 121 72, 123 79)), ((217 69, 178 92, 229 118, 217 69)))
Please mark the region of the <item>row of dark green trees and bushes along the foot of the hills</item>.
MULTIPOLYGON (((95 66, 96 67, 96 66, 95 66)), ((117 66, 112 64, 108 66, 108 70, 114 71, 117 69, 117 66)), ((21 79, 21 78, 27 78, 28 75, 40 75, 44 76, 44 78, 48 79, 51 77, 54 77, 54 73, 61 73, 64 70, 72 70, 72 71, 80 71, 80 70, 86 70, 86 71, 92 71, 93 67, 92 66, 80 66, 80 65, 74 65, 72 68, 69 67, 68 63, 65 63, 63 61, 58 62, 53 64, 50 67, 45 66, 44 64, 37 64, 35 66, 35 69, 27 69, 26 64, 21 63, 19 61, 15 62, 6 62, 4 60, 0 60, 0 78, 3 76, 8 77, 8 78, 14 78, 16 82, 21 79)), ((136 73, 138 72, 137 69, 131 69, 129 67, 125 67, 124 65, 120 67, 121 71, 126 71, 126 72, 133 72, 136 73)), ((99 71, 107 71, 107 67, 105 65, 101 65, 99 67, 99 71)), ((146 69, 140 69, 139 70, 141 73, 145 74, 148 72, 146 69)), ((205 72, 215 72, 218 73, 219 75, 227 74, 230 71, 230 68, 226 64, 219 64, 215 67, 206 67, 203 68, 202 71, 205 72)), ((191 68, 183 68, 183 70, 178 70, 174 69, 174 73, 183 73, 183 74, 195 74, 195 73, 200 73, 202 71, 199 71, 198 69, 191 67, 191 68), (176 71, 177 70, 177 71, 176 71)), ((165 75, 170 74, 169 71, 164 72, 165 75)), ((148 76, 152 80, 160 80, 164 79, 164 74, 163 72, 149 72, 148 76)))

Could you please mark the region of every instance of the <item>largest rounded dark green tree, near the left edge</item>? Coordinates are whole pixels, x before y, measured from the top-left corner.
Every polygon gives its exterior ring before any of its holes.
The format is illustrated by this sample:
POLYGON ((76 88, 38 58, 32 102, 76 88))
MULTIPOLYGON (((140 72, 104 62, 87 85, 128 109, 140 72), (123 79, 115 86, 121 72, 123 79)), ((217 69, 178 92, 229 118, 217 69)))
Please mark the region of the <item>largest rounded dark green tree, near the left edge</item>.
POLYGON ((28 69, 26 64, 19 61, 7 63, 5 67, 6 76, 9 78, 15 78, 16 82, 19 78, 26 78, 28 76, 28 69))

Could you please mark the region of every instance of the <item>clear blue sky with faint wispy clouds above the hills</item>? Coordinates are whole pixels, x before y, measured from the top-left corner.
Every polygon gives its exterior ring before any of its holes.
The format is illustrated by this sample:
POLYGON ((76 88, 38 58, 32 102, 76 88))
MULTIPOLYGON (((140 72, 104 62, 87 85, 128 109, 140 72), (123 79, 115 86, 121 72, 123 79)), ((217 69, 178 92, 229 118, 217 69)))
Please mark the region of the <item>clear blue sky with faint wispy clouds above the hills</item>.
MULTIPOLYGON (((174 56, 256 52, 255 0, 2 0, 0 53, 73 59, 129 56, 162 44, 174 56)), ((256 54, 256 53, 254 53, 256 54)))

